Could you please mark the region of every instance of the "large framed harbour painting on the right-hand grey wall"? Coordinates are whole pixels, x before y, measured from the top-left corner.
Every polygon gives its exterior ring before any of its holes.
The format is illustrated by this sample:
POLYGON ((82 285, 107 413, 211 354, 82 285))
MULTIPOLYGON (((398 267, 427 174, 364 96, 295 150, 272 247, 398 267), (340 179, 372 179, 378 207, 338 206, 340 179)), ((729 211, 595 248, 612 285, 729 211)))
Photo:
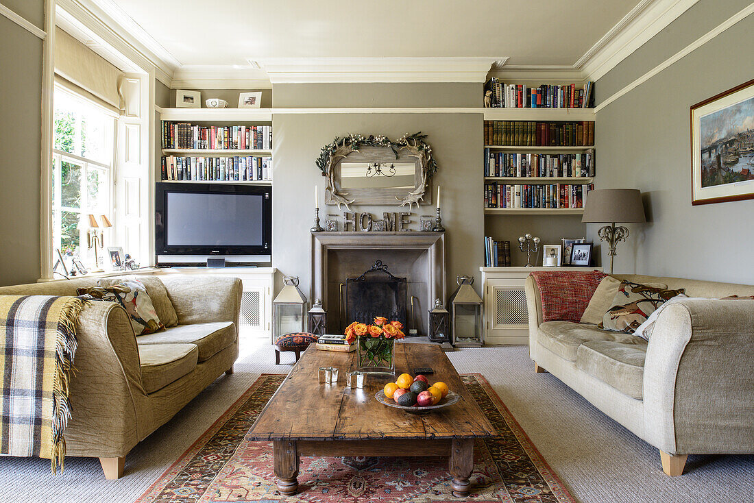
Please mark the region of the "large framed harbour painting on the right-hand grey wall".
POLYGON ((691 204, 754 199, 754 80, 691 106, 691 204))

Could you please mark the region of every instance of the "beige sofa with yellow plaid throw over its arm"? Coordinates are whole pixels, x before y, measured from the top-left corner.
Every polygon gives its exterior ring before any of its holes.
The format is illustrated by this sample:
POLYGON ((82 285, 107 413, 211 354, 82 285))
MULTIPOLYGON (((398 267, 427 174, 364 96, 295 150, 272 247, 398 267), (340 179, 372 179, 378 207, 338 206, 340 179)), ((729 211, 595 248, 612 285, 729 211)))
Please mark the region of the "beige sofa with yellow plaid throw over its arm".
MULTIPOLYGON (((164 425, 238 357, 241 280, 139 276, 164 332, 134 336, 126 311, 91 301, 77 329, 67 455, 100 458, 106 478, 123 474, 125 455, 164 425)), ((117 278, 107 281, 114 283, 117 278)), ((76 295, 97 279, 0 287, 5 295, 76 295)))

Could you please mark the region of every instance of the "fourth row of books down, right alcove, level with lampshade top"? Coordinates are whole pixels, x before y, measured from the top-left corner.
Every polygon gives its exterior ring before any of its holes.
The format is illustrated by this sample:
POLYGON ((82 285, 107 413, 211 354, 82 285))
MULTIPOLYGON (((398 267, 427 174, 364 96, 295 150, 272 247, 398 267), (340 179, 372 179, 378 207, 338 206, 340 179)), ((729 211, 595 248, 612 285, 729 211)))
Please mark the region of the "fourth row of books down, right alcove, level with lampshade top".
POLYGON ((594 184, 572 185, 550 183, 541 185, 508 185, 486 183, 486 208, 583 208, 584 197, 594 184))

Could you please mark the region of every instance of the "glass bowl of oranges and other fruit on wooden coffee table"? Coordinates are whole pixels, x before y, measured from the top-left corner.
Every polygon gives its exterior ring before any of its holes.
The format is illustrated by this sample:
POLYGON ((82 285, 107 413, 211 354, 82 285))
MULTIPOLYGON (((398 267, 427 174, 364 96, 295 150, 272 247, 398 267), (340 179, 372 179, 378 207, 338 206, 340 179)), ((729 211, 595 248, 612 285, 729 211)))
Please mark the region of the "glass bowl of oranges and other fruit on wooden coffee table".
POLYGON ((461 400, 461 395, 450 391, 444 382, 430 385, 425 376, 401 374, 395 382, 388 382, 382 391, 377 391, 375 400, 407 413, 426 414, 451 406, 461 400))

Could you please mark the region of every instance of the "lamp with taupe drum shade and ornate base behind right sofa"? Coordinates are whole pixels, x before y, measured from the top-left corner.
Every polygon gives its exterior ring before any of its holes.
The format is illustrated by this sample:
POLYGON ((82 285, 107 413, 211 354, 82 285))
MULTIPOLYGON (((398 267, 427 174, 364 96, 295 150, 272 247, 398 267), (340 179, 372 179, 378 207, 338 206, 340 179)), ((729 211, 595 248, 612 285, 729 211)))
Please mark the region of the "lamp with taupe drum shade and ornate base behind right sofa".
POLYGON ((584 223, 608 223, 597 231, 600 241, 608 242, 610 274, 613 271, 615 247, 628 238, 628 229, 615 223, 644 223, 644 205, 639 189, 595 189, 587 194, 584 204, 584 223))

